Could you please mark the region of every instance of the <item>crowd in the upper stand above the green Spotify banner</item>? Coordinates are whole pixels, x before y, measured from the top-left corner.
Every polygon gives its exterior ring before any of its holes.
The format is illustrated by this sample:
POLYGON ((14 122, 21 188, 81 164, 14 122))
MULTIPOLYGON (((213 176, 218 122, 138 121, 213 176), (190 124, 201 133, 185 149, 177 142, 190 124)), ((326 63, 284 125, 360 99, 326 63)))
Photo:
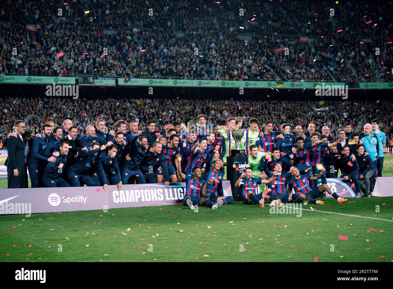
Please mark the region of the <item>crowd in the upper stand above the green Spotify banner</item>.
POLYGON ((4 75, 392 80, 391 44, 387 43, 393 28, 390 3, 381 7, 364 0, 340 4, 334 6, 335 16, 330 16, 324 2, 313 2, 307 9, 300 1, 208 5, 182 0, 163 5, 139 0, 123 5, 75 0, 67 5, 61 1, 60 6, 43 0, 23 6, 2 2, 0 74, 4 75), (365 24, 369 20, 372 24, 365 24), (26 24, 35 28, 26 31, 26 24), (104 35, 103 29, 116 29, 116 33, 104 35), (342 32, 336 32, 339 29, 342 32), (253 36, 244 39, 239 36, 243 33, 253 36), (304 35, 309 36, 306 42, 300 39, 304 35), (359 35, 373 41, 361 44, 359 35), (283 50, 286 47, 289 55, 283 50), (375 48, 380 48, 379 55, 375 48), (57 57, 60 52, 64 55, 57 57))

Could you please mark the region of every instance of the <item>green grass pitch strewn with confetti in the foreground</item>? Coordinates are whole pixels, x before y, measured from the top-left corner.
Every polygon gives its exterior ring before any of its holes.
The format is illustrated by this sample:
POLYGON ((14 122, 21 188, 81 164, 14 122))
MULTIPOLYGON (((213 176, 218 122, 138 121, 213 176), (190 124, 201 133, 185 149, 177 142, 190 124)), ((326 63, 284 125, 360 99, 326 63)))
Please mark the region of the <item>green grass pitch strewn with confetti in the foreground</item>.
MULTIPOLYGON (((384 175, 392 171, 388 158, 384 175)), ((241 202, 197 213, 172 205, 4 215, 0 261, 391 262, 390 202, 393 197, 344 204, 329 198, 303 206, 301 217, 241 202)))

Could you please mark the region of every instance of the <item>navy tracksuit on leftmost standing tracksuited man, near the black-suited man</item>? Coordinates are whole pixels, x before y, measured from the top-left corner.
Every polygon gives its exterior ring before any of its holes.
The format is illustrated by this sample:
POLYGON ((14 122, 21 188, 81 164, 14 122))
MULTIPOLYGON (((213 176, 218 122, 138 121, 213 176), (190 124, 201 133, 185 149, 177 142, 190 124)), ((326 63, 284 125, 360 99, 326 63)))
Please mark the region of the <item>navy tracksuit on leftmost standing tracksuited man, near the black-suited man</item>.
POLYGON ((44 183, 42 182, 42 175, 46 165, 48 164, 48 158, 44 156, 44 151, 48 145, 48 139, 45 137, 34 138, 33 147, 31 148, 31 154, 27 161, 29 175, 31 179, 31 188, 42 188, 44 183))

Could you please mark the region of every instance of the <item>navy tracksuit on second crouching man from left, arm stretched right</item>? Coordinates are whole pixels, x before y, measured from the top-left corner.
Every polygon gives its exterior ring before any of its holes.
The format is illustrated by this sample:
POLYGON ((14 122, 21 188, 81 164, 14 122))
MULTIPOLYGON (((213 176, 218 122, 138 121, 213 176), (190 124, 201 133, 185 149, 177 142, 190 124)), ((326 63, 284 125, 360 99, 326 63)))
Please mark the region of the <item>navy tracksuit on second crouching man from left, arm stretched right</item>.
POLYGON ((80 187, 81 182, 88 187, 96 185, 95 181, 89 175, 91 168, 90 161, 92 155, 99 151, 101 151, 101 148, 91 151, 82 150, 77 156, 78 161, 68 166, 67 175, 73 187, 80 187))

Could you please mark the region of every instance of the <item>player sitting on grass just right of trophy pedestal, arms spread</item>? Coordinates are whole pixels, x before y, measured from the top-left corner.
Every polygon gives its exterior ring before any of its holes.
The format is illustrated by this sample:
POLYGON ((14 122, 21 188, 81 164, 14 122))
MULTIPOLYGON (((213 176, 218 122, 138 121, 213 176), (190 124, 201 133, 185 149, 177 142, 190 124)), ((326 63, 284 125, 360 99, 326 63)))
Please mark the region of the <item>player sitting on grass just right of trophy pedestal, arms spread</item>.
MULTIPOLYGON (((274 172, 275 174, 275 172, 274 172)), ((246 168, 246 172, 242 173, 237 179, 235 187, 242 186, 242 195, 243 195, 243 203, 248 205, 256 205, 260 204, 261 208, 264 205, 264 199, 262 197, 263 192, 257 195, 257 184, 269 184, 273 181, 274 175, 270 177, 270 179, 263 180, 263 179, 254 179, 252 177, 253 170, 252 168, 246 168)))

